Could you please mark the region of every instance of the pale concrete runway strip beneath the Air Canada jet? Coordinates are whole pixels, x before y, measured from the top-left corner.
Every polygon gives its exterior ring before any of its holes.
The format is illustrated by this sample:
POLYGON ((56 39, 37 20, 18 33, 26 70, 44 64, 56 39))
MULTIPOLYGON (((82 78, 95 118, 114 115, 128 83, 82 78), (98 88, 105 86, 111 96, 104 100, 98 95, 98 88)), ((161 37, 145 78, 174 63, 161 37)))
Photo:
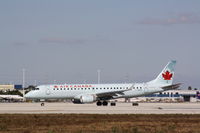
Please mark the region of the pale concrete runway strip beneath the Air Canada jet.
POLYGON ((0 114, 200 114, 200 103, 116 103, 116 106, 73 103, 0 103, 0 114))

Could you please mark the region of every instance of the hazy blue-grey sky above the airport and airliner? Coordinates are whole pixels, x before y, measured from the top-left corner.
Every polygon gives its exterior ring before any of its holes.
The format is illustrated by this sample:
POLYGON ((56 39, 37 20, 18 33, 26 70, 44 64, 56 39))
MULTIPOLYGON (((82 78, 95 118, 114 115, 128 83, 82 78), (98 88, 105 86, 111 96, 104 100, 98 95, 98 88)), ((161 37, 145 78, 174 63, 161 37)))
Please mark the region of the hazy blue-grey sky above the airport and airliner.
POLYGON ((171 59, 200 88, 199 0, 1 0, 0 83, 145 82, 171 59))

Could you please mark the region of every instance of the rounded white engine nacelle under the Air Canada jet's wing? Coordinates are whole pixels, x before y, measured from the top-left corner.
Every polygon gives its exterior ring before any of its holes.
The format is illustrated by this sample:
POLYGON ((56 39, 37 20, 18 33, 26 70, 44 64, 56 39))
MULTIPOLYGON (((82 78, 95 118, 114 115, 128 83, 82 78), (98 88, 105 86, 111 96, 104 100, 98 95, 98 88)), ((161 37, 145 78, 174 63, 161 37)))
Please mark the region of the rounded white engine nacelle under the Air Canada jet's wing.
POLYGON ((92 94, 79 95, 74 98, 74 103, 92 103, 96 101, 96 96, 92 94))

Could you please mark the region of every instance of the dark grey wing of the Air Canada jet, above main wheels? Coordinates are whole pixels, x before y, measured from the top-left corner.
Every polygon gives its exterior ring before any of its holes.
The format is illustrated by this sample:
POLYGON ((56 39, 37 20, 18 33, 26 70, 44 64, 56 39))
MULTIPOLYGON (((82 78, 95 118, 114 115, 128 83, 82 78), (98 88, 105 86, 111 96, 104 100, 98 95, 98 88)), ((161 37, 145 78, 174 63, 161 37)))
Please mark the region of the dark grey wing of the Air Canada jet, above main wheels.
POLYGON ((101 92, 101 93, 96 93, 96 96, 100 99, 111 99, 111 98, 113 98, 113 96, 124 95, 124 92, 129 91, 129 90, 131 90, 131 89, 111 91, 111 92, 101 92))

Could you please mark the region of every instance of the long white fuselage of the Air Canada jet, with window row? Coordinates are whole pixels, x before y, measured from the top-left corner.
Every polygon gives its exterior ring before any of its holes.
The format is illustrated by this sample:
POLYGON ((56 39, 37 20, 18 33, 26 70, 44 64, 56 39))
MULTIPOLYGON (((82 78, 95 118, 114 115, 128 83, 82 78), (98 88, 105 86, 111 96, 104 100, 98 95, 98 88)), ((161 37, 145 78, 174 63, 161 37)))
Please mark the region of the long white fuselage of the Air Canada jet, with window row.
POLYGON ((150 86, 148 83, 135 84, 60 84, 60 85, 41 85, 32 90, 25 97, 32 99, 74 99, 84 94, 99 94, 118 92, 115 98, 131 98, 144 96, 156 92, 164 91, 162 86, 150 86))

